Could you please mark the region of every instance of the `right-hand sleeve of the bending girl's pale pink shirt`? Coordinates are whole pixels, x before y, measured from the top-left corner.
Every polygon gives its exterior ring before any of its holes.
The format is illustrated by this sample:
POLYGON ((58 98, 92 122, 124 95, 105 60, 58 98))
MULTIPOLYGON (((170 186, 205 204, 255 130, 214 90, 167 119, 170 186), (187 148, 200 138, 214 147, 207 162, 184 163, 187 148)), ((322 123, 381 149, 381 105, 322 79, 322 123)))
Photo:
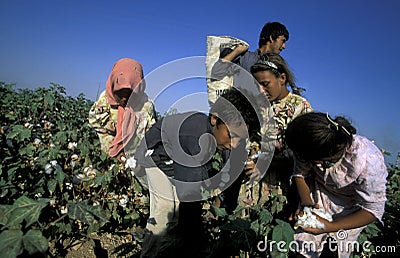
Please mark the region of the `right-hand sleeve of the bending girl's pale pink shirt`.
POLYGON ((388 176, 384 158, 380 150, 369 143, 366 154, 361 158, 360 176, 357 178, 357 194, 360 197, 358 206, 371 212, 382 222, 386 202, 386 178, 388 176))

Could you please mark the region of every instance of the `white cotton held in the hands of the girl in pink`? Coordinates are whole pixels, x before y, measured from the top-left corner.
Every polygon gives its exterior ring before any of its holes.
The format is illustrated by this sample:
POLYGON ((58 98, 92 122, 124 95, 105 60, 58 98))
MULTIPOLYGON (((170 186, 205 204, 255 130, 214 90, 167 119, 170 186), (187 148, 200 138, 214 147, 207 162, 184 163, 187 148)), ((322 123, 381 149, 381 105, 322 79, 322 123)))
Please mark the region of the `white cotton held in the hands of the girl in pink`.
POLYGON ((304 207, 303 208, 303 215, 298 216, 297 222, 294 226, 294 229, 298 228, 324 228, 324 223, 317 219, 317 216, 324 218, 328 221, 332 221, 332 216, 327 213, 323 208, 311 208, 311 207, 304 207))

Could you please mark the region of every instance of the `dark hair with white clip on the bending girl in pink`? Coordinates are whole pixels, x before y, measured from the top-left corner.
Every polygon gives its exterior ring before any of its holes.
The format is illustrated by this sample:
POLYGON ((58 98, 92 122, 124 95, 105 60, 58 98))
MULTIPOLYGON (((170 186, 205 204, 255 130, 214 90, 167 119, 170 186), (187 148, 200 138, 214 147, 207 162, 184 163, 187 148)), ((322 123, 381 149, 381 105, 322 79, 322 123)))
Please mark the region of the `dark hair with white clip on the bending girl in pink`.
POLYGON ((356 129, 344 117, 312 112, 296 117, 285 132, 288 147, 304 160, 338 160, 356 129))

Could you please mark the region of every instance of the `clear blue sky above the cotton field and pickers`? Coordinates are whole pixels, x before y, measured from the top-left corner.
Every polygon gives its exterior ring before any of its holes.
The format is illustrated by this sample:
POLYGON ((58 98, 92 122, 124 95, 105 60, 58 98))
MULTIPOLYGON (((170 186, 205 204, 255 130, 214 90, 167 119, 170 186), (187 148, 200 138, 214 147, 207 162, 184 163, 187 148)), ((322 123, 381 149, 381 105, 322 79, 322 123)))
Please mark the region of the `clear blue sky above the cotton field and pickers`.
MULTIPOLYGON (((2 0, 0 81, 20 88, 54 82, 94 100, 119 58, 138 60, 147 75, 204 56, 208 35, 234 36, 255 50, 262 26, 280 21, 290 32, 281 55, 313 108, 345 115, 359 134, 396 154, 399 13, 397 0, 2 0)), ((205 89, 201 79, 177 83, 156 108, 163 113, 205 89)))

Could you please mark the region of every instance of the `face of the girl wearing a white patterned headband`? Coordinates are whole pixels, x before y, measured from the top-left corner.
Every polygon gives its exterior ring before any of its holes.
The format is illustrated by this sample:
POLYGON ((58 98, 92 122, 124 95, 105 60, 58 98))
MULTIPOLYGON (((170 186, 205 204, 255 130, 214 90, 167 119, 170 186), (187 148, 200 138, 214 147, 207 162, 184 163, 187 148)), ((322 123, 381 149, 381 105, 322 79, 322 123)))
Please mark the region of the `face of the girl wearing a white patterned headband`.
POLYGON ((259 84, 261 94, 264 94, 270 102, 280 100, 289 94, 286 88, 286 74, 282 73, 276 77, 270 71, 259 71, 254 74, 254 78, 259 84))

